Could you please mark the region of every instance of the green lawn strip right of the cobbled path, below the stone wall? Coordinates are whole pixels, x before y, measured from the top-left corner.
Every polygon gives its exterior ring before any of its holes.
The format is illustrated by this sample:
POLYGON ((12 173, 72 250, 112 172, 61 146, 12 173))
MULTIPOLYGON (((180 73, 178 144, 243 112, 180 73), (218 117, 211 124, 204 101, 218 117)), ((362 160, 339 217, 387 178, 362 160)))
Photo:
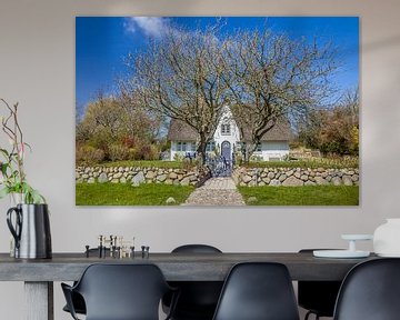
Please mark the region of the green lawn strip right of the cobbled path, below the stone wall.
POLYGON ((238 187, 249 206, 358 206, 359 187, 238 187), (256 199, 250 199, 256 197, 256 199), (251 201, 252 200, 252 201, 251 201))

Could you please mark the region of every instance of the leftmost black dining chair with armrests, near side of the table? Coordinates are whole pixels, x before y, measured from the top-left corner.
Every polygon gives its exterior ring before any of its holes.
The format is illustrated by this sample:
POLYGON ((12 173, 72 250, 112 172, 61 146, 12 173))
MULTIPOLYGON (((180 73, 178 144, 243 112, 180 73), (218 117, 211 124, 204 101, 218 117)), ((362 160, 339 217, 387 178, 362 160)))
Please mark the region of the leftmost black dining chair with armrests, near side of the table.
MULTIPOLYGON (((169 287, 154 264, 91 264, 73 287, 61 283, 73 319, 72 292, 82 296, 87 320, 159 320, 159 304, 171 291, 171 312, 178 291, 169 287)), ((166 319, 170 319, 170 314, 166 319)))

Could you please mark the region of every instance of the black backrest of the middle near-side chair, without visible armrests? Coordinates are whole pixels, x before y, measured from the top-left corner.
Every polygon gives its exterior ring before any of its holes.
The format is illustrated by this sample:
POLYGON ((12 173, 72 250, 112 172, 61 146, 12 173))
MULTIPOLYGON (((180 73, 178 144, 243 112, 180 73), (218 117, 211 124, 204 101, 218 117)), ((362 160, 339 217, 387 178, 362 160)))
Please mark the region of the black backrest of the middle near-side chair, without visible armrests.
POLYGON ((230 271, 213 320, 298 320, 293 287, 284 264, 244 262, 230 271))

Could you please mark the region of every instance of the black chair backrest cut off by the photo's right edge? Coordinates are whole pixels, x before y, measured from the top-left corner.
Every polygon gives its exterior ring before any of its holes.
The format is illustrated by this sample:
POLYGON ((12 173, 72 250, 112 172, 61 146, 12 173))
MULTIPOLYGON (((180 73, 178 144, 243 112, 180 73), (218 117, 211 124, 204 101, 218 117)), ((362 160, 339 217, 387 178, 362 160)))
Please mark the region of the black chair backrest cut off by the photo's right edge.
POLYGON ((369 260, 351 269, 340 288, 333 319, 400 319, 400 259, 369 260))

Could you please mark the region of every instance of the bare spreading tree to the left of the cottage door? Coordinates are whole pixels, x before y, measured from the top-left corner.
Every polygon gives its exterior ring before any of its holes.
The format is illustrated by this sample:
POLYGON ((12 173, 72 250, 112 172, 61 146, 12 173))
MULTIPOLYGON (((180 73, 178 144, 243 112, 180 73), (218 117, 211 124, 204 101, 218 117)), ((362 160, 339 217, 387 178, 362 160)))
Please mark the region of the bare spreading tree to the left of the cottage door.
POLYGON ((228 102, 218 28, 170 29, 142 54, 128 57, 132 77, 121 83, 124 96, 134 96, 150 110, 193 128, 202 162, 228 102))

